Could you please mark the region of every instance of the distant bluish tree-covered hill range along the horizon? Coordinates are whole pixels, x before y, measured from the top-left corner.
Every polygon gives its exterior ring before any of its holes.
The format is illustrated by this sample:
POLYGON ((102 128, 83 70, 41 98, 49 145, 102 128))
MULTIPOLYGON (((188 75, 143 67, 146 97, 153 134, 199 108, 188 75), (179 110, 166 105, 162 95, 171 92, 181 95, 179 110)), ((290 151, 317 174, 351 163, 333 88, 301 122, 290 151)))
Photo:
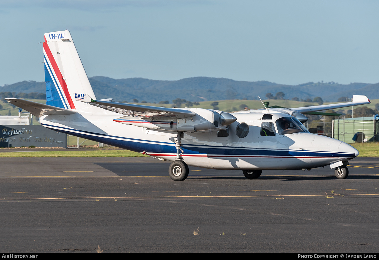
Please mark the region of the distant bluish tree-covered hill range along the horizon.
MULTIPOLYGON (((146 78, 114 79, 103 76, 89 78, 97 99, 113 98, 115 101, 158 103, 160 101, 180 98, 191 102, 227 99, 266 99, 266 94, 273 96, 283 92, 285 99, 297 97, 307 100, 320 96, 324 102, 337 101, 340 97, 352 97, 364 94, 370 99, 379 99, 377 84, 335 82, 308 82, 299 85, 284 85, 269 81, 236 81, 228 78, 193 77, 181 80, 150 80, 146 78)), ((44 93, 45 83, 21 81, 11 85, 0 86, 0 92, 44 93)))

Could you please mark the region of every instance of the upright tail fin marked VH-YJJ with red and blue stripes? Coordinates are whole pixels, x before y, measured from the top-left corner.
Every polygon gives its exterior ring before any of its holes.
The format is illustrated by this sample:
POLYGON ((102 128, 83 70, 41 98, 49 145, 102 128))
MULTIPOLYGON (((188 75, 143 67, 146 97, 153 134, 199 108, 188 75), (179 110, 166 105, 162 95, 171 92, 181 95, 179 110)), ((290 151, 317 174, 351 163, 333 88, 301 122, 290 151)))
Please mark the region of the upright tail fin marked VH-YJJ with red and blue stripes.
POLYGON ((68 30, 45 33, 44 61, 47 105, 80 110, 86 94, 96 99, 68 30))

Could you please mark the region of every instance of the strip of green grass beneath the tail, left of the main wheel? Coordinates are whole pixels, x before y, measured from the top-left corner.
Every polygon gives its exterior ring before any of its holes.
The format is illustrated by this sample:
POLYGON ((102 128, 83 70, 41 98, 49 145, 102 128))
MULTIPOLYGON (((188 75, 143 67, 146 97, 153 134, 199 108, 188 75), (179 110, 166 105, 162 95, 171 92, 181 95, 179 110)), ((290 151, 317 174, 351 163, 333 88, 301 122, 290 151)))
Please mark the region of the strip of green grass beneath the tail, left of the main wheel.
POLYGON ((0 157, 147 157, 142 153, 132 152, 129 150, 115 150, 115 149, 93 149, 93 150, 80 150, 70 149, 62 151, 36 151, 36 152, 3 152, 0 149, 0 157))

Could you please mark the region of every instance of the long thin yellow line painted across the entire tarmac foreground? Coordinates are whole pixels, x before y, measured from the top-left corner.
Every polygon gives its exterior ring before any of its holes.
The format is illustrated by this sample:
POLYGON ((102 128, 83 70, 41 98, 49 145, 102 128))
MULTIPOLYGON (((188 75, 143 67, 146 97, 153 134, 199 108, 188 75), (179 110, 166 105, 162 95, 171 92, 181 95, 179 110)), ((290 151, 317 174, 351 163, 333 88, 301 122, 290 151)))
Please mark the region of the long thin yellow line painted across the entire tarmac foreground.
MULTIPOLYGON (((340 194, 333 194, 340 196, 340 194)), ((379 194, 344 194, 343 196, 378 196, 379 194)), ((238 197, 325 197, 326 195, 246 195, 246 196, 143 196, 143 197, 61 197, 61 198, 24 198, 24 199, 0 199, 0 200, 48 200, 48 199, 159 199, 159 198, 238 198, 238 197)))

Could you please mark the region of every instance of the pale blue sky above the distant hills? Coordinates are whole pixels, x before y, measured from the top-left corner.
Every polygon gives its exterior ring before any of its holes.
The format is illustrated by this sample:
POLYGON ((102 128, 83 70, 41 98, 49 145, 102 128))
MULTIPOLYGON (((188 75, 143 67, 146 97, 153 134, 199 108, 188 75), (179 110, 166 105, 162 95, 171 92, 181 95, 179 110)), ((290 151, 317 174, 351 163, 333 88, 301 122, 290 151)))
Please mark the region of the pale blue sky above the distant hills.
POLYGON ((88 77, 379 82, 378 1, 2 0, 0 86, 44 81, 70 30, 88 77))

